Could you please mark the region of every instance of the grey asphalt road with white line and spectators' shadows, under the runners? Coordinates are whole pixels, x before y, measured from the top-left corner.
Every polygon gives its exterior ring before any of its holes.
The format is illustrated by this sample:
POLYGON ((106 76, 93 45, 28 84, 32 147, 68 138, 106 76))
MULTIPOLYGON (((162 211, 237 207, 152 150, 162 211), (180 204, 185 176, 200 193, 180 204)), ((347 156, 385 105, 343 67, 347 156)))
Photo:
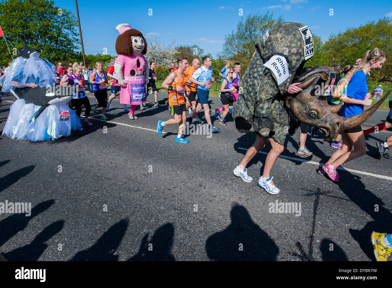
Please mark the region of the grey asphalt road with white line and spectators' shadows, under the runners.
MULTIPOLYGON (((14 99, 2 100, 0 129, 14 99)), ((232 170, 254 134, 236 132, 228 116, 227 126, 215 121, 211 138, 176 143, 176 126, 156 132, 171 116, 152 100, 137 120, 114 100, 108 121, 93 116, 92 127, 54 141, 0 137, 0 202, 32 207, 29 217, 0 214, 6 259, 374 261, 370 233, 392 233, 391 163, 374 158, 390 131, 372 134, 366 155, 338 170, 338 183, 316 172, 334 152, 321 134, 308 136, 312 157, 296 154, 299 132, 287 137, 271 172, 281 192, 270 195, 257 185, 270 145, 249 163, 254 181, 245 183, 232 170), (276 201, 298 210, 272 213, 276 201)), ((377 112, 363 128, 386 115, 377 112)))

